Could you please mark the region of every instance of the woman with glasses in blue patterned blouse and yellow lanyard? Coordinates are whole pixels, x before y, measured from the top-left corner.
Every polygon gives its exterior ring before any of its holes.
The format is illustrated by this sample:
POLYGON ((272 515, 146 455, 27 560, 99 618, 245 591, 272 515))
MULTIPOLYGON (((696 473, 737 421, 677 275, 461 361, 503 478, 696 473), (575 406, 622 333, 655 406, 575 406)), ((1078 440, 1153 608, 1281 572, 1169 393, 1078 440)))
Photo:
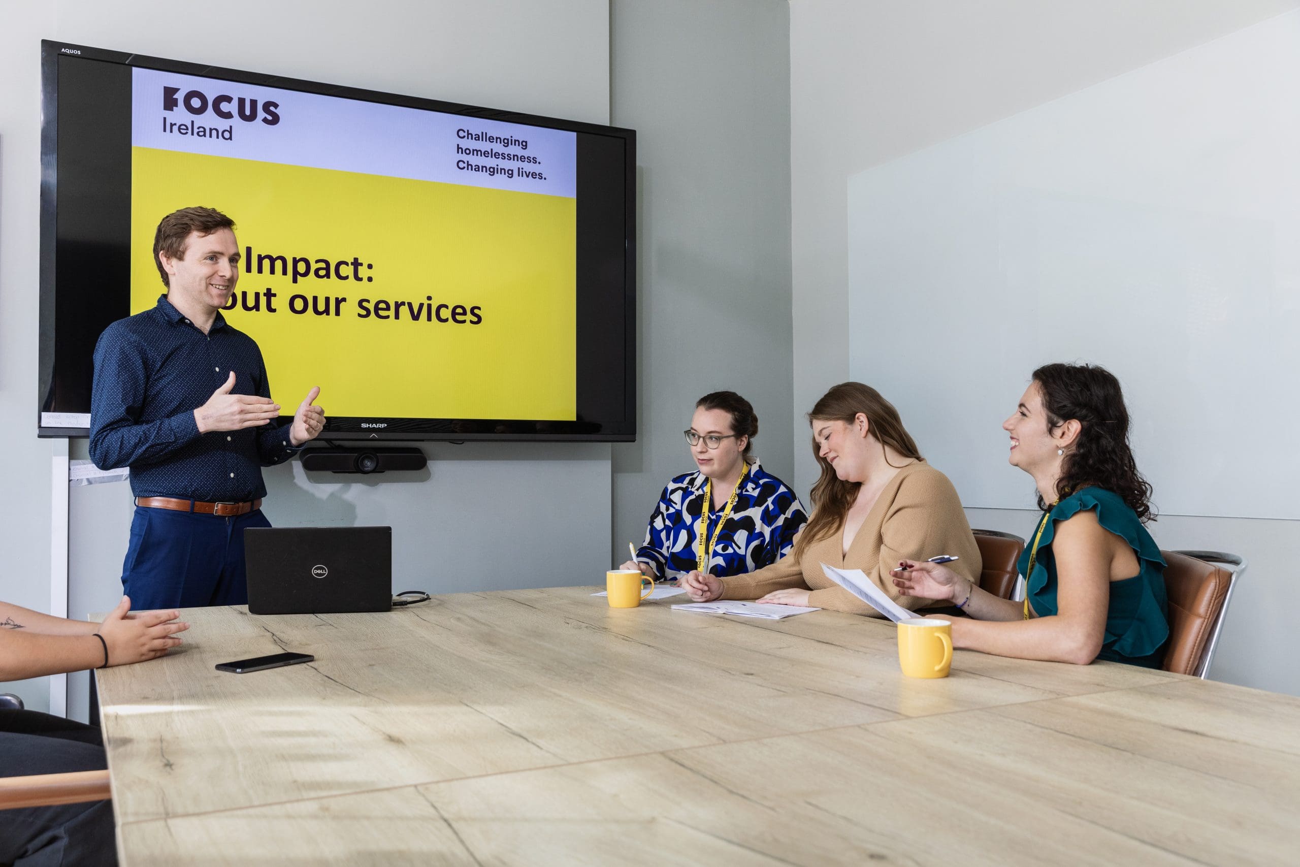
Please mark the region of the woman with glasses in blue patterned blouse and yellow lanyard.
POLYGON ((776 563, 807 515, 753 458, 754 407, 734 391, 706 394, 685 434, 698 469, 663 489, 645 543, 621 568, 675 581, 692 571, 740 575, 776 563))

